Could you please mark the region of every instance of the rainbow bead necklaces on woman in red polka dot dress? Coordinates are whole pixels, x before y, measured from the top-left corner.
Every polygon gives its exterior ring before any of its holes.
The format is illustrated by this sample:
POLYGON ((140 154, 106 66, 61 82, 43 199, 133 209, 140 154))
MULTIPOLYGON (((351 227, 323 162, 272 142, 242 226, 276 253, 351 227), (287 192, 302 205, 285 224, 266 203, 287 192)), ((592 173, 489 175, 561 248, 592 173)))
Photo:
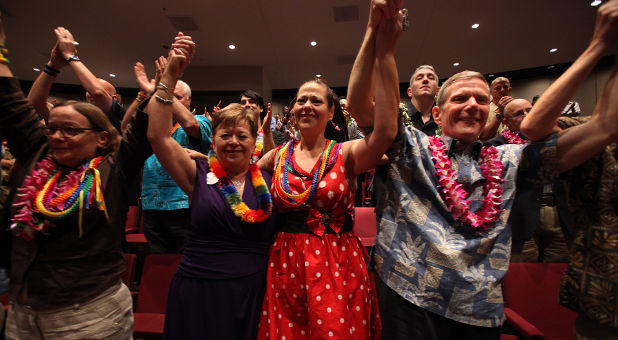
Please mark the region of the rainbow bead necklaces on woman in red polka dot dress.
POLYGON ((306 174, 301 173, 294 167, 294 161, 292 160, 294 146, 297 142, 296 140, 288 141, 284 147, 279 149, 277 152, 275 172, 273 174, 275 192, 281 199, 283 205, 289 208, 305 206, 311 201, 318 187, 318 183, 322 180, 324 174, 333 167, 339 156, 339 150, 341 149, 341 143, 337 143, 333 140, 327 141, 324 150, 322 150, 320 154, 317 169, 313 173, 311 187, 300 194, 293 194, 288 185, 286 172, 290 172, 296 176, 306 176, 306 174))

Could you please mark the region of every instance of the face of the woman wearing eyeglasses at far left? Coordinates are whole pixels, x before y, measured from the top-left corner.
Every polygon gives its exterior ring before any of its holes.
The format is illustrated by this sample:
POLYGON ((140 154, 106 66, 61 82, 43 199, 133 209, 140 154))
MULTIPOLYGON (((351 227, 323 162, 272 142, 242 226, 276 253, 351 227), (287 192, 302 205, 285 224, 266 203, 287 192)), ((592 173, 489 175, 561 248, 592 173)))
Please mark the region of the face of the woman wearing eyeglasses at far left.
MULTIPOLYGON (((51 128, 93 128, 88 119, 72 106, 54 108, 49 113, 47 126, 51 128)), ((60 130, 56 130, 47 138, 52 158, 67 167, 76 167, 95 157, 97 149, 105 147, 108 141, 107 132, 94 130, 79 131, 74 136, 64 136, 60 130)))

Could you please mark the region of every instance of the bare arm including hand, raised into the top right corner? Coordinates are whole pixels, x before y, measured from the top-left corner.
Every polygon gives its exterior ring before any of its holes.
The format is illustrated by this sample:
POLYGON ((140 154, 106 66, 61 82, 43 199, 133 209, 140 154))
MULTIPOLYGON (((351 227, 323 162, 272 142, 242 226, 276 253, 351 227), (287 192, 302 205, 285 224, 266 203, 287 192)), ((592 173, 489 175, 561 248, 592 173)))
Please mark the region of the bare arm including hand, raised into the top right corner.
POLYGON ((586 50, 539 98, 521 124, 529 139, 541 140, 556 131, 556 119, 593 67, 618 38, 618 1, 611 0, 597 12, 594 34, 586 50))

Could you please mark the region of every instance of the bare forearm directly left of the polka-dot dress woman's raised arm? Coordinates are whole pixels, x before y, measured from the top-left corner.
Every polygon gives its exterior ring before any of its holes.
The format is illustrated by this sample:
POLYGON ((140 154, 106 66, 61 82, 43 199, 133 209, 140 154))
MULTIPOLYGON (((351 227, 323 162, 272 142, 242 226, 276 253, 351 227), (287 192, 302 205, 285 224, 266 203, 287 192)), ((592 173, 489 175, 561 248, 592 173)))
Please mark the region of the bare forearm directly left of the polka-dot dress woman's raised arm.
POLYGON ((348 108, 361 127, 373 126, 376 29, 367 27, 348 82, 348 108))

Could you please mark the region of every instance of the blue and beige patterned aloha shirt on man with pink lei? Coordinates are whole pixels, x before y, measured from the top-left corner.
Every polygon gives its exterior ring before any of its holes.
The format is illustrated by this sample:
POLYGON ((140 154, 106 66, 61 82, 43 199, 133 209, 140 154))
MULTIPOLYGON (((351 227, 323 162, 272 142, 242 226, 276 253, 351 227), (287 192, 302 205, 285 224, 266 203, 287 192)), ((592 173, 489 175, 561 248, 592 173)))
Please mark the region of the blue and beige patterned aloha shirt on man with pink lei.
MULTIPOLYGON (((509 265, 511 229, 507 225, 520 156, 526 155, 526 183, 547 181, 555 172, 556 135, 527 146, 498 146, 504 165, 501 213, 494 228, 475 232, 456 221, 438 188, 427 135, 402 127, 388 151, 386 205, 379 223, 376 272, 411 303, 465 324, 497 327, 504 322, 500 282, 509 265), (541 162, 543 160, 543 162, 541 162)), ((482 205, 480 142, 465 145, 442 137, 457 182, 470 194, 470 209, 482 205)), ((521 181, 521 180, 520 180, 521 181)))

